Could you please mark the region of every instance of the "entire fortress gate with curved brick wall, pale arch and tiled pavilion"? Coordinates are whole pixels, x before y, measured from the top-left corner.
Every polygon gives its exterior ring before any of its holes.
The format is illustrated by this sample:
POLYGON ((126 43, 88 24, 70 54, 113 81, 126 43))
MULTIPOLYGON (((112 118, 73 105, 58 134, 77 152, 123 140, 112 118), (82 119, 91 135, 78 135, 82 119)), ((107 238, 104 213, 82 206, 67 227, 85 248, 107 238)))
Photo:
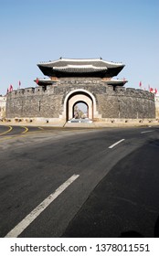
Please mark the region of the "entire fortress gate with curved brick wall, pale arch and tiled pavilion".
POLYGON ((92 121, 155 118, 154 94, 125 88, 113 79, 122 63, 103 59, 63 59, 37 64, 46 78, 36 88, 9 91, 7 118, 34 118, 65 123, 75 117, 77 103, 85 103, 92 121))

